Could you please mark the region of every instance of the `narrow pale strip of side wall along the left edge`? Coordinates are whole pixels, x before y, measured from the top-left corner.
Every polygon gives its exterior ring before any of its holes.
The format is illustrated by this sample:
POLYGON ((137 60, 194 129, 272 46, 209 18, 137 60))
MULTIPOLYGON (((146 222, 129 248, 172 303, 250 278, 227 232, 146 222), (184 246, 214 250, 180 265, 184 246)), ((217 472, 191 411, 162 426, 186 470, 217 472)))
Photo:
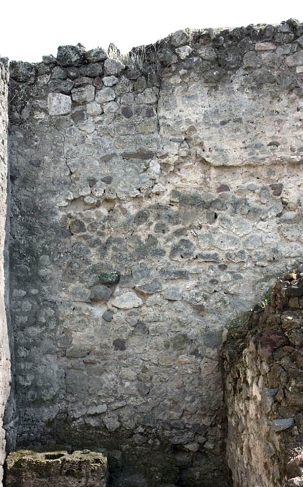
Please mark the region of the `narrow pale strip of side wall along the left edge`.
POLYGON ((6 402, 10 393, 10 352, 5 307, 5 226, 7 204, 8 61, 0 58, 0 485, 5 459, 3 429, 6 402))

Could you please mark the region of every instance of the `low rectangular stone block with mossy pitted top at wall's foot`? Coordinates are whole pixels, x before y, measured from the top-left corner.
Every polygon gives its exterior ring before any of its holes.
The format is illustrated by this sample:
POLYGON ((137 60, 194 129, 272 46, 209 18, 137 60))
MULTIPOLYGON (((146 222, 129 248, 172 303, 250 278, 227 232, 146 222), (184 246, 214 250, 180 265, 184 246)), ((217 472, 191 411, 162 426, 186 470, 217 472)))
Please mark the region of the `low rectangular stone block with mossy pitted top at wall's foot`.
POLYGON ((107 456, 81 450, 17 450, 6 461, 7 487, 106 487, 107 456))

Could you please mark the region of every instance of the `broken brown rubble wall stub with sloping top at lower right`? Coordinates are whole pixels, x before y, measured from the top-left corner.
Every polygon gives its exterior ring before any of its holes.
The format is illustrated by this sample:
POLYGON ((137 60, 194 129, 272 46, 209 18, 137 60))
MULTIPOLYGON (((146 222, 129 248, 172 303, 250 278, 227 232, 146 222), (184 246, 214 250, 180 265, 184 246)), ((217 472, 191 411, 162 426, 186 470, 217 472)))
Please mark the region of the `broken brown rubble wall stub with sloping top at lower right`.
POLYGON ((224 345, 234 487, 303 485, 303 265, 230 330, 224 345))

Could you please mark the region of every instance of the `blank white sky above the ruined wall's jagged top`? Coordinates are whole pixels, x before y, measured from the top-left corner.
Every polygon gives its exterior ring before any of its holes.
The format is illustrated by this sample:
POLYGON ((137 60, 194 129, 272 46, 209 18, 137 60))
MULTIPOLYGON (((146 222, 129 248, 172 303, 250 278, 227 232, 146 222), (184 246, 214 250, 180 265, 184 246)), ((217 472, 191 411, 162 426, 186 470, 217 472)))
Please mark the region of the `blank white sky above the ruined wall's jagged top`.
POLYGON ((126 52, 175 30, 303 22, 303 0, 3 0, 0 55, 40 61, 62 44, 126 52))

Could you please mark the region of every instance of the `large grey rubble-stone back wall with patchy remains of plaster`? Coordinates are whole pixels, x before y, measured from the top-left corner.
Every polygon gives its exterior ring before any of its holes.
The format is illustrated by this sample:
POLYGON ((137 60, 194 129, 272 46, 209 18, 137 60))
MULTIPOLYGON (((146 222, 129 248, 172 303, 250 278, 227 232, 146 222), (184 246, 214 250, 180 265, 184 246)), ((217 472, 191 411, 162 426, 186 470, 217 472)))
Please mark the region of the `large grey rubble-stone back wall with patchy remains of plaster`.
POLYGON ((228 485, 222 337, 302 260, 303 24, 61 46, 10 79, 10 449, 228 485))

